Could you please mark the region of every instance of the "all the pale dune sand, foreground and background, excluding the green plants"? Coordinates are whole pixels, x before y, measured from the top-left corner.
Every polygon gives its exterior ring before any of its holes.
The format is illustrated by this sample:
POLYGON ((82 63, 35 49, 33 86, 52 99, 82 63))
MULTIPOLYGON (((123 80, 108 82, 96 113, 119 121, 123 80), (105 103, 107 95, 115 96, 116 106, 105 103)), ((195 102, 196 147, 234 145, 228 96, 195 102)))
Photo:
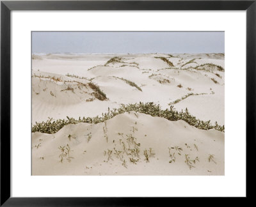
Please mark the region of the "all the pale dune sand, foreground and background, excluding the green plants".
MULTIPOLYGON (((188 96, 172 105, 177 111, 188 108, 196 118, 203 121, 211 120, 212 124, 217 121, 220 125, 224 125, 225 72, 207 66, 205 66, 207 71, 198 70, 200 65, 209 63, 224 68, 223 54, 173 54, 173 57, 167 54, 34 56, 32 123, 46 121, 49 117, 66 119, 69 116, 78 119, 83 116, 100 116, 102 112, 108 111, 108 107, 113 109, 118 108, 120 104, 136 102, 154 102, 161 105, 162 109, 166 109, 170 107, 168 105, 170 102, 188 93, 205 93, 188 96), (122 58, 121 63, 105 65, 115 56, 122 58), (155 57, 166 57, 174 66, 171 67, 162 59, 155 57), (184 65, 191 60, 193 63, 184 65), (68 77, 67 73, 84 78, 68 77), (134 82, 142 91, 118 78, 134 82), (212 79, 218 83, 214 83, 212 79), (106 94, 107 100, 97 99, 93 89, 88 86, 90 81, 99 86, 106 94), (181 88, 177 87, 179 84, 181 88)), ((199 130, 184 121, 168 121, 139 113, 138 115, 137 118, 134 112, 125 112, 109 119, 108 142, 102 129, 104 123, 67 125, 56 134, 33 133, 33 175, 224 174, 224 132, 199 130), (138 130, 132 132, 132 127, 138 130), (124 138, 118 133, 123 133, 124 138), (92 135, 89 142, 88 134, 92 135), (136 164, 130 162, 131 155, 122 153, 122 159, 114 155, 114 148, 124 151, 122 144, 119 144, 120 139, 129 148, 126 135, 130 134, 141 144, 140 158, 136 164), (68 135, 72 137, 68 139, 68 135), (65 157, 61 163, 59 157, 61 150, 58 147, 67 144, 72 150, 70 156, 74 158, 70 158, 71 162, 68 162, 65 157), (198 147, 198 151, 194 144, 198 147), (179 155, 177 150, 171 149, 171 152, 175 153, 175 162, 169 163, 168 147, 175 146, 182 148, 182 151, 179 155), (143 151, 149 148, 152 148, 156 155, 146 162, 143 151), (111 154, 113 160, 108 161, 108 155, 104 156, 104 151, 108 150, 113 151, 111 154), (185 163, 186 154, 191 160, 198 157, 200 162, 196 160, 194 167, 189 169, 189 165, 185 163), (212 160, 209 162, 209 155, 214 155, 213 160, 216 163, 212 160), (121 160, 127 162, 127 168, 122 165, 121 160)))

